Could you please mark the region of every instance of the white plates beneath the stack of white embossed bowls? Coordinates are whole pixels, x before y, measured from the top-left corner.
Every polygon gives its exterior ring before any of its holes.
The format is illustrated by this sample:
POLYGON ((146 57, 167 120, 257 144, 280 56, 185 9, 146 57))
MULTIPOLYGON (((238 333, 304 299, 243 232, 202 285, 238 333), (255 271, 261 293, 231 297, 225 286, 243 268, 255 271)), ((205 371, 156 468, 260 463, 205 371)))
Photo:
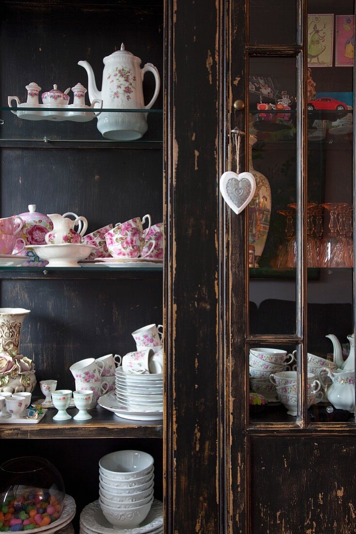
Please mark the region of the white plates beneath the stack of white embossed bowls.
MULTIPOLYGON (((146 519, 136 528, 118 529, 113 527, 104 517, 99 506, 99 501, 94 501, 85 506, 80 517, 81 529, 86 534, 159 534, 163 527, 163 502, 154 499, 151 510, 146 519)), ((36 532, 38 529, 36 530, 36 532)))

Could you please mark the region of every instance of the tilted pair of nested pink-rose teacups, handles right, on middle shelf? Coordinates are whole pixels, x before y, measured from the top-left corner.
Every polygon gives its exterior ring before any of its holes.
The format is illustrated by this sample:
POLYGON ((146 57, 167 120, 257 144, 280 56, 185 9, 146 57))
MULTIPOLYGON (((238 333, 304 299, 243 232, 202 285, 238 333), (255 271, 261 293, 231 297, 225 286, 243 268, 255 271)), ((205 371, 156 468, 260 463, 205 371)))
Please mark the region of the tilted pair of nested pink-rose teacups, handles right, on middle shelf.
POLYGON ((135 217, 125 223, 118 223, 113 230, 105 234, 106 245, 110 255, 114 258, 138 258, 146 257, 154 248, 154 241, 151 248, 145 255, 142 251, 145 245, 145 236, 151 228, 151 216, 145 215, 141 221, 140 217, 135 217), (145 220, 148 220, 147 230, 143 230, 145 220))

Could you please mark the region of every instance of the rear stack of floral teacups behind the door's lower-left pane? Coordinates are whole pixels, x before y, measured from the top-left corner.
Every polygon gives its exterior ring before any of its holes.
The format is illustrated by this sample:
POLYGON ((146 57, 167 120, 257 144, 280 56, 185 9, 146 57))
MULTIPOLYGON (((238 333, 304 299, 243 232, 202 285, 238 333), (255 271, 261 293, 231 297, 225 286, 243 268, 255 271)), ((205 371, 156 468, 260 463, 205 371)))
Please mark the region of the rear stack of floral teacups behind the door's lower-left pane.
POLYGON ((287 366, 294 361, 294 354, 287 354, 286 350, 280 349, 250 349, 251 391, 263 395, 267 402, 277 400, 276 387, 270 381, 270 374, 285 371, 287 366))

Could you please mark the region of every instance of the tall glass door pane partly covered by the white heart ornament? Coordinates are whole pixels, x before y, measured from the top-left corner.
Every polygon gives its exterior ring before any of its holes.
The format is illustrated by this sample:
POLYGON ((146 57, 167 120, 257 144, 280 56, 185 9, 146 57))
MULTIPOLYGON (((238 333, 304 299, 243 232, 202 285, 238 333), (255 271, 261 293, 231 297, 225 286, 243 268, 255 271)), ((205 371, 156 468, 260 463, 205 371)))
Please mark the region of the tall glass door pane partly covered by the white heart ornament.
POLYGON ((296 60, 250 59, 250 333, 296 331, 296 60))

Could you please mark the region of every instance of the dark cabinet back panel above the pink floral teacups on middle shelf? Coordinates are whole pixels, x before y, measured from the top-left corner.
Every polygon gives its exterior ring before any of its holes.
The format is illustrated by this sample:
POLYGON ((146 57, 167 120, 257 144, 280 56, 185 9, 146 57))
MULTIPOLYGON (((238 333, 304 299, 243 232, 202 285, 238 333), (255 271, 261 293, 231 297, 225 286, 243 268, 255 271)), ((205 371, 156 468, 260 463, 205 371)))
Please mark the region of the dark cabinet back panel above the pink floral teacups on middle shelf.
POLYGON ((160 151, 2 150, 1 216, 74 211, 88 232, 151 214, 162 221, 160 151))

